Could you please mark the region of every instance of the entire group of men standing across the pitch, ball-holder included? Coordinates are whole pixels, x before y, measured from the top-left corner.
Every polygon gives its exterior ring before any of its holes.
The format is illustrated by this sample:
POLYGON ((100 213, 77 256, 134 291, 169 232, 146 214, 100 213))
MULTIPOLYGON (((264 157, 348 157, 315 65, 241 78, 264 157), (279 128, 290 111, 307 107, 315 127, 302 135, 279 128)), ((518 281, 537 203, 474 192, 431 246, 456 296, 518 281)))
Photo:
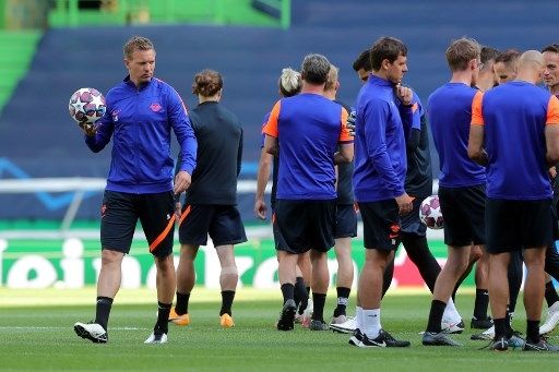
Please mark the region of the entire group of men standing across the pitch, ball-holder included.
MULTIPOLYGON (((449 337, 464 329, 453 298, 477 261, 472 327, 486 331, 473 338, 492 339, 496 350, 510 345, 557 350, 540 334, 559 322, 559 296, 550 278, 544 280, 544 263, 548 274, 559 276, 548 175, 559 160, 559 130, 554 125, 559 123, 554 96, 559 93, 559 47, 551 45, 543 53, 498 53, 472 39, 453 41, 447 50, 452 79, 429 97, 427 110, 401 84, 406 56, 406 46, 392 37, 380 38, 359 56, 354 70, 364 86, 355 111, 335 100, 338 70, 324 56, 308 55, 300 73, 284 69, 280 77, 283 98, 263 124, 254 205, 257 216, 264 219, 264 189, 273 167, 272 223, 284 297, 277 329, 294 329, 300 321, 311 331, 350 332, 349 344, 358 347, 408 346, 380 323, 381 299, 402 242, 433 293, 424 345, 460 345, 449 337), (535 86, 542 75, 550 92, 535 86), (442 269, 418 218, 421 201, 432 193, 427 122, 440 157, 439 199, 449 247, 442 269), (354 206, 364 223, 366 260, 356 316, 349 319, 350 239, 357 235, 354 206), (326 252, 332 247, 338 261, 337 303, 328 324, 326 252), (525 340, 510 325, 523 261, 525 340), (538 328, 544 288, 549 317, 538 328), (493 320, 487 315, 488 298, 493 320)), ((240 123, 218 104, 223 81, 217 72, 197 74, 193 93, 200 104, 187 115, 178 94, 153 77, 155 48, 148 39, 133 37, 124 45, 124 65, 129 75, 107 94, 107 113, 97 125, 83 127, 92 151, 103 149, 111 137, 115 144, 102 207, 96 317, 78 322, 74 331, 94 343, 108 340, 121 262, 138 219, 157 267, 158 315, 145 343, 166 343, 168 322, 190 324, 193 262, 207 235, 222 265, 219 322, 231 327, 238 281, 233 249, 246 241, 236 208, 240 123), (181 147, 175 182, 171 130, 181 147), (181 205, 176 195, 187 189, 181 205), (177 272, 171 254, 176 220, 181 243, 177 272)))

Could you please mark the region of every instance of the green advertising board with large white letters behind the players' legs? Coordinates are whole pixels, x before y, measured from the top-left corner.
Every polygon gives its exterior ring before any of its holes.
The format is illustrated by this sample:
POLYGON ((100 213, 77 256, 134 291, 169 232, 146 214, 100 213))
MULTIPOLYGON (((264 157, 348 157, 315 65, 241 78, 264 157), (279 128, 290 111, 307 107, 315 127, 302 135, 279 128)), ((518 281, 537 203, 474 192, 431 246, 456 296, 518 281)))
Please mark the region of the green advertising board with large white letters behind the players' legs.
MULTIPOLYGON (((364 264, 362 241, 353 242, 354 272, 364 264)), ((100 269, 98 239, 0 239, 0 287, 17 288, 82 288, 97 281, 100 269)), ((442 264, 445 247, 441 241, 431 241, 430 249, 442 264)), ((175 252, 179 252, 179 247, 175 252)), ((178 264, 178 254, 175 264, 178 264)), ((277 259, 271 239, 250 239, 235 247, 235 259, 239 269, 239 286, 260 289, 277 289, 277 259)), ((329 253, 331 287, 335 284, 337 263, 334 252, 329 253)), ((195 261, 197 285, 219 288, 219 261, 211 244, 201 248, 195 261)), ((153 256, 143 239, 135 239, 129 255, 122 263, 123 288, 155 288, 153 256)), ((465 280, 471 286, 473 278, 465 280)), ((357 284, 354 283, 354 286, 357 284)), ((392 289, 415 288, 428 292, 416 266, 400 250, 394 263, 392 289)))

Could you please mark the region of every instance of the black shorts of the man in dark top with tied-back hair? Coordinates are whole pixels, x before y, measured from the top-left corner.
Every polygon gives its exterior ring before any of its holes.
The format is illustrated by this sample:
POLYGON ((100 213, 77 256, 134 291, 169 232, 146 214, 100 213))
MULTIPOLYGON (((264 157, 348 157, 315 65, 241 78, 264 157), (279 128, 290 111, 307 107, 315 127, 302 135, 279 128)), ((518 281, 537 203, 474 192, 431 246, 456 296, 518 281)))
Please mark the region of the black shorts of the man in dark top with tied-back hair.
POLYGON ((214 247, 247 241, 245 226, 235 205, 185 205, 179 226, 181 244, 206 245, 207 235, 214 247))

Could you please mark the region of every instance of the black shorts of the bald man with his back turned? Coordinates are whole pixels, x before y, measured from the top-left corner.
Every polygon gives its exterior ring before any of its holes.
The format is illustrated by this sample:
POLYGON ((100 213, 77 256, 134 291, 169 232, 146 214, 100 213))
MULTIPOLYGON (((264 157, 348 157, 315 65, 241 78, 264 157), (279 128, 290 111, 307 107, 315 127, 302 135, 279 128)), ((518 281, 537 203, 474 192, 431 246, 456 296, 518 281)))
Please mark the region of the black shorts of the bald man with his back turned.
POLYGON ((487 251, 502 253, 552 243, 551 200, 487 199, 487 251))

